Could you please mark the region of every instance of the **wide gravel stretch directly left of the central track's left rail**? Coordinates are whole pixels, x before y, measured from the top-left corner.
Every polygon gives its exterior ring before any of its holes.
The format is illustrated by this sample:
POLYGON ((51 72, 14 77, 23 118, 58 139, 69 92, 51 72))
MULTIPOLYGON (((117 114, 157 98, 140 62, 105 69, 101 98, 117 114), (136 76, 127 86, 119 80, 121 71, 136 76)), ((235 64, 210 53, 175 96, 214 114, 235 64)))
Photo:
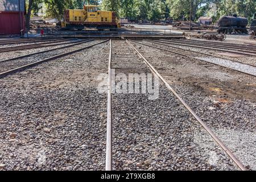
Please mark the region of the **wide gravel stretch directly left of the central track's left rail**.
MULTIPOLYGON (((102 170, 109 44, 0 79, 3 170, 102 170)), ((1 170, 1 169, 0 169, 1 170)))

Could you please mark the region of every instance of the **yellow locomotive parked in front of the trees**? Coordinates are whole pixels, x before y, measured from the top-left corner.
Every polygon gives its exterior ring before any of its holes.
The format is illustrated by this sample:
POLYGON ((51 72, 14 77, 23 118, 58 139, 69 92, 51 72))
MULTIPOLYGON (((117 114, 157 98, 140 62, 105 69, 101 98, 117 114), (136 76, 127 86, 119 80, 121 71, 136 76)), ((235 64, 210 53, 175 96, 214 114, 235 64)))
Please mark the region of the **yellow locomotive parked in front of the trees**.
POLYGON ((65 10, 61 28, 82 30, 85 27, 97 29, 119 28, 119 19, 113 11, 100 11, 96 5, 84 5, 83 10, 65 10))

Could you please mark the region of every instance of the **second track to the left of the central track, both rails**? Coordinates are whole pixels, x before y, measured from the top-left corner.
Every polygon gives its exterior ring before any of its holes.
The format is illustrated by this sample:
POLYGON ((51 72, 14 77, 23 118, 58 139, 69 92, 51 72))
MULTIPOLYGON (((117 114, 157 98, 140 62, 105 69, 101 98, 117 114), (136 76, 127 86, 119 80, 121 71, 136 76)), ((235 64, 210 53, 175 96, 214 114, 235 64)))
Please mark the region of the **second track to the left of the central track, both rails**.
POLYGON ((76 39, 48 40, 47 42, 43 42, 43 43, 26 44, 23 46, 3 47, 3 48, 0 48, 0 53, 1 52, 10 52, 10 51, 19 51, 19 50, 23 50, 23 49, 59 46, 59 45, 64 44, 65 42, 70 41, 70 40, 76 40, 76 39), (54 43, 54 44, 52 44, 52 43, 54 43))

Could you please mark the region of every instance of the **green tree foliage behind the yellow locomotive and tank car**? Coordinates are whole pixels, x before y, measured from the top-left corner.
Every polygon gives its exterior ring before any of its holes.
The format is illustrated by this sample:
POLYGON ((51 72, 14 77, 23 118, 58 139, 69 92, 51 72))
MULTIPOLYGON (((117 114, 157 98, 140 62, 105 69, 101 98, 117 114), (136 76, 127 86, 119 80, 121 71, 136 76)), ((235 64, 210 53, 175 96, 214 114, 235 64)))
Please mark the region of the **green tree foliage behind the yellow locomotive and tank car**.
MULTIPOLYGON (((65 9, 82 9, 85 3, 100 5, 102 10, 115 11, 119 17, 131 20, 161 20, 173 18, 189 19, 192 5, 192 20, 200 16, 214 16, 236 13, 252 19, 256 13, 256 0, 26 0, 27 10, 38 11, 38 4, 44 2, 47 15, 59 18, 65 9), (216 13, 212 14, 209 5, 216 5, 216 13)), ((214 6, 215 6, 214 5, 214 6)))

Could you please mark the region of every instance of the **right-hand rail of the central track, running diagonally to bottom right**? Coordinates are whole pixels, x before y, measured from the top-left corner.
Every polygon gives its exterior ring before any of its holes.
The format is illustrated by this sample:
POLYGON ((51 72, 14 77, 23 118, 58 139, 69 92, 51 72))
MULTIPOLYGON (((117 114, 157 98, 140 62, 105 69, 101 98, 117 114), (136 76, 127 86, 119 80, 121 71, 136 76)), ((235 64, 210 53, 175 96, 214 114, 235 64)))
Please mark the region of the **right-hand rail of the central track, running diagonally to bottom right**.
POLYGON ((164 78, 156 71, 156 69, 152 67, 152 65, 145 59, 145 57, 143 57, 143 55, 129 42, 129 40, 126 40, 126 42, 130 45, 131 48, 134 49, 134 51, 138 53, 138 55, 143 59, 144 63, 153 70, 153 73, 155 73, 160 78, 160 80, 164 82, 167 88, 171 90, 171 92, 177 97, 181 104, 183 104, 188 109, 188 111, 193 115, 193 117, 200 123, 201 126, 204 127, 208 134, 218 143, 218 145, 226 152, 226 154, 229 155, 229 157, 234 161, 234 163, 236 163, 237 166, 242 171, 246 171, 245 166, 243 166, 240 160, 236 158, 233 152, 230 151, 229 148, 226 147, 225 144, 217 137, 217 135, 213 133, 213 131, 199 118, 199 116, 197 116, 195 111, 193 111, 191 107, 187 105, 187 103, 179 96, 179 94, 177 94, 177 92, 175 92, 175 90, 168 84, 168 82, 164 80, 164 78))

